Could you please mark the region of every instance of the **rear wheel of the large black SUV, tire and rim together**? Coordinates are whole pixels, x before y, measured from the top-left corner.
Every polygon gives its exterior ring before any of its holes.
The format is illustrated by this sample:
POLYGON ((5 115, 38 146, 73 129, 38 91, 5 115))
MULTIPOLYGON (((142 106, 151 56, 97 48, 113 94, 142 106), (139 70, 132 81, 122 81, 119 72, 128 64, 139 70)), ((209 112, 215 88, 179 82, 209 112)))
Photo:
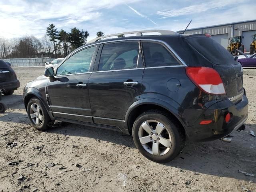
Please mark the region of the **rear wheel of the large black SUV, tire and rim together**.
POLYGON ((185 145, 182 128, 168 114, 159 110, 150 110, 138 116, 132 136, 142 155, 158 163, 173 160, 185 145))

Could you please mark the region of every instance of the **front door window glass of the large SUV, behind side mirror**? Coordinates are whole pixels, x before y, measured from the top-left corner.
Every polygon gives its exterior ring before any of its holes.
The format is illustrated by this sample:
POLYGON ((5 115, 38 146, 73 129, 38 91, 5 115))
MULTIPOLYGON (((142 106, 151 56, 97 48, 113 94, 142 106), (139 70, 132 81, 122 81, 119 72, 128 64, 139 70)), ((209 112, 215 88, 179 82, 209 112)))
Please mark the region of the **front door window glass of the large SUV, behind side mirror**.
POLYGON ((89 71, 96 46, 86 48, 68 58, 57 69, 56 75, 85 73, 89 71))

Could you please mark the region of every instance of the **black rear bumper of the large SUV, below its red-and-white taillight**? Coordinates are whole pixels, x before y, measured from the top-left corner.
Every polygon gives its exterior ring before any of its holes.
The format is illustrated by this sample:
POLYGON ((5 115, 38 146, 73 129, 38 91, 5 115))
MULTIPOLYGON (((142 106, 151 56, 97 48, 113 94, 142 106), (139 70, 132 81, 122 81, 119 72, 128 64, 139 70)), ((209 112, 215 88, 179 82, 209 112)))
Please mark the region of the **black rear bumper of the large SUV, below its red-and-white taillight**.
POLYGON ((199 142, 220 139, 240 128, 247 118, 248 99, 244 94, 242 101, 236 105, 230 100, 224 100, 210 106, 194 126, 186 128, 186 134, 190 140, 199 142), (228 113, 232 114, 232 118, 226 123, 225 117, 228 113), (200 125, 202 120, 212 120, 212 122, 200 125))

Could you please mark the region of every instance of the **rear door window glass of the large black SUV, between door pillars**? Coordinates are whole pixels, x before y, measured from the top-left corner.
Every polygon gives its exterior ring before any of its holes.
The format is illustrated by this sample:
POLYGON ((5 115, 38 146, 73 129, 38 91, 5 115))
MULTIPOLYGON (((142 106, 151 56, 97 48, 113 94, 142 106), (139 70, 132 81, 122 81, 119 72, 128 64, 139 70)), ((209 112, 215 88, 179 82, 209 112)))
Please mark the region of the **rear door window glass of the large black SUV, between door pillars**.
POLYGON ((99 71, 132 69, 142 65, 138 42, 104 44, 99 71))

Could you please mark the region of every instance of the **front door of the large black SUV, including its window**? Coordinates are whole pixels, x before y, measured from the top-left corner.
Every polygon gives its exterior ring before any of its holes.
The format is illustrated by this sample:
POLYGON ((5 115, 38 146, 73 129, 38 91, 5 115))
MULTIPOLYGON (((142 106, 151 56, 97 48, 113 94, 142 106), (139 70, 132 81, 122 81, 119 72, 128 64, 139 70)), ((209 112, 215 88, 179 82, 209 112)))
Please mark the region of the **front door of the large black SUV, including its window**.
POLYGON ((88 79, 92 74, 96 46, 72 54, 56 71, 47 90, 52 114, 57 118, 92 122, 88 79))

